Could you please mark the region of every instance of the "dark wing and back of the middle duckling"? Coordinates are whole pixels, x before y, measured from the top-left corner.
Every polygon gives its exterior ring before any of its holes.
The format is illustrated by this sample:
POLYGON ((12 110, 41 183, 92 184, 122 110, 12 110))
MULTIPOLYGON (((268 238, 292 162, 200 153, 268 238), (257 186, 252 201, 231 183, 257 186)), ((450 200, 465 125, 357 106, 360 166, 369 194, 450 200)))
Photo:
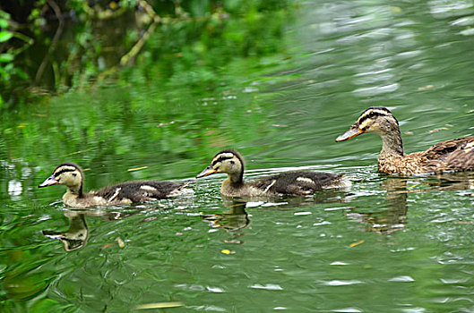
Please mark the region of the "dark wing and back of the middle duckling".
POLYGON ((265 193, 309 195, 324 188, 338 187, 342 178, 338 173, 285 172, 253 182, 265 193))

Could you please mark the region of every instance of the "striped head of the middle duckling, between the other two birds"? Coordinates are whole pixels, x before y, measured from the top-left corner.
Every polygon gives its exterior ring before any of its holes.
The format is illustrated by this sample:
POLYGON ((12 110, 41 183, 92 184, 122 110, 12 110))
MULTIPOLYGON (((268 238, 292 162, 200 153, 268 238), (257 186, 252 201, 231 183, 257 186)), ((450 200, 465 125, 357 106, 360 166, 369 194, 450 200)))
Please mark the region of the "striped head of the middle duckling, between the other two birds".
POLYGON ((207 166, 196 178, 201 178, 213 173, 227 173, 232 182, 243 182, 244 159, 236 150, 222 150, 212 157, 211 165, 207 166))

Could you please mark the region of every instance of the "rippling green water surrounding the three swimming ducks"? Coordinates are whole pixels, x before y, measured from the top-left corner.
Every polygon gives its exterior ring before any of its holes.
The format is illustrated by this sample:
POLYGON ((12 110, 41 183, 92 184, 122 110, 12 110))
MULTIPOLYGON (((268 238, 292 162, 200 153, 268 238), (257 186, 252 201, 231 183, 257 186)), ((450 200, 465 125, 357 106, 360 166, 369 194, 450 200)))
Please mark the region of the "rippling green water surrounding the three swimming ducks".
POLYGON ((2 311, 474 311, 474 174, 388 177, 380 139, 334 142, 373 105, 392 108, 407 152, 473 135, 472 9, 308 2, 281 53, 229 63, 218 89, 110 83, 4 113, 2 311), (222 148, 244 155, 247 179, 328 170, 353 187, 241 203, 214 175, 194 195, 88 210, 37 188, 65 161, 88 190, 190 179, 222 148), (55 232, 87 240, 66 251, 55 232))

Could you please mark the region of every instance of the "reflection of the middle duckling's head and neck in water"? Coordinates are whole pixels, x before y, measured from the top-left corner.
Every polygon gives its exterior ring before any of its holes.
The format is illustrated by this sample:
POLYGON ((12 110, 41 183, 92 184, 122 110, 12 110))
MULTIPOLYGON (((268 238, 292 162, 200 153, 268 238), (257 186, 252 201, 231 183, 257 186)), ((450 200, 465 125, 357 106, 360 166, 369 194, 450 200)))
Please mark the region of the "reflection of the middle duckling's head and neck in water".
MULTIPOLYGON (((246 202, 224 199, 223 205, 228 211, 223 214, 204 215, 203 220, 213 228, 221 228, 226 232, 237 232, 250 224, 246 212, 246 202)), ((238 242, 241 243, 241 242, 238 242)))

